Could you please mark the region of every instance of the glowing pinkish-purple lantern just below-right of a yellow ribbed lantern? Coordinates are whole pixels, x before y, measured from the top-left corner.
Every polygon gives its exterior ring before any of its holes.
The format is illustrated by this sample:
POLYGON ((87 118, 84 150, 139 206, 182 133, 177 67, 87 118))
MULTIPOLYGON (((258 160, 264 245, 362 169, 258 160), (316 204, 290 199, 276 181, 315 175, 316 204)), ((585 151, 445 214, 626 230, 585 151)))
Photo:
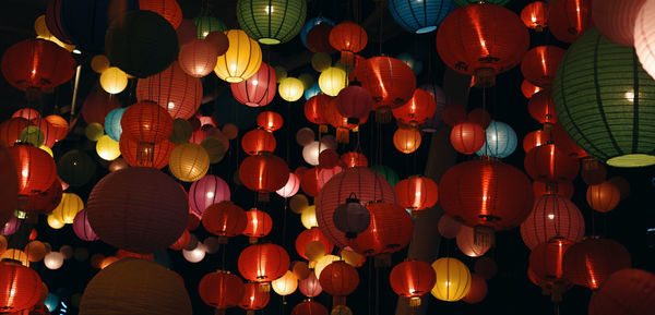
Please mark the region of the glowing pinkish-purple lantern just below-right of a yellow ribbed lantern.
POLYGON ((189 190, 189 207, 200 217, 209 206, 225 201, 229 201, 229 186, 217 175, 206 174, 189 190))

